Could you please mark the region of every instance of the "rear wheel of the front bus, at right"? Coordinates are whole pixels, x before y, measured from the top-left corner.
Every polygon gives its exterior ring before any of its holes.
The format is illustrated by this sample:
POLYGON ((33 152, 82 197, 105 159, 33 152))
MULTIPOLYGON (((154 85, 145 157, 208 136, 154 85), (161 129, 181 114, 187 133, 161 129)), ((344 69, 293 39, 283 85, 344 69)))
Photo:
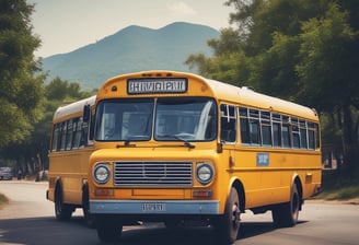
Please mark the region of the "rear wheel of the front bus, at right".
POLYGON ((271 217, 277 228, 294 226, 298 222, 300 197, 297 185, 293 184, 289 202, 278 205, 271 210, 271 217))

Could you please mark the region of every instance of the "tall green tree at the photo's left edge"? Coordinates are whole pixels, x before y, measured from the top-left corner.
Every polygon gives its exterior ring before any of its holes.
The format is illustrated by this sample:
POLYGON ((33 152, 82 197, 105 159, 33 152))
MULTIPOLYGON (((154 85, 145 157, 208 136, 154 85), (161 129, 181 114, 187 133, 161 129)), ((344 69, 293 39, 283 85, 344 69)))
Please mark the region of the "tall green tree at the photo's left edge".
POLYGON ((34 57, 40 40, 33 10, 25 0, 0 1, 0 148, 24 140, 42 117, 45 75, 34 57))

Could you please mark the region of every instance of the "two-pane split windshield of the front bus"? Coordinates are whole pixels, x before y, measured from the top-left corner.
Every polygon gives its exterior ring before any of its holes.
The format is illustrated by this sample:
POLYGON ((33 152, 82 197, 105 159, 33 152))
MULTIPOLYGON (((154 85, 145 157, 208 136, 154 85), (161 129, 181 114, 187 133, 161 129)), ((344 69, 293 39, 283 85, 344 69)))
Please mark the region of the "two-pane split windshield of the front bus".
POLYGON ((216 103, 208 97, 119 98, 99 103, 97 141, 211 141, 216 103))

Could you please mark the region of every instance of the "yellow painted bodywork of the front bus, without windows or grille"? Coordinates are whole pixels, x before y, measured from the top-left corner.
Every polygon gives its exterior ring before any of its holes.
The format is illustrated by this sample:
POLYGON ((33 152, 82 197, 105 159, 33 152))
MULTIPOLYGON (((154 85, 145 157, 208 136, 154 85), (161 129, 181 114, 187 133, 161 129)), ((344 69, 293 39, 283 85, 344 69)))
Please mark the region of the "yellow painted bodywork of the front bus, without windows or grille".
MULTIPOLYGON (((288 116, 296 116, 313 122, 319 122, 315 110, 276 97, 256 93, 246 88, 236 88, 230 84, 208 80, 199 75, 174 72, 174 71, 147 71, 131 74, 118 75, 106 81, 100 89, 97 102, 107 98, 119 97, 162 97, 162 96, 208 96, 213 97, 218 105, 228 103, 234 106, 248 106, 256 109, 265 109, 273 113, 280 113, 288 116), (188 90, 180 95, 175 94, 136 94, 128 95, 127 80, 136 78, 187 78, 188 90)), ((238 130, 240 139, 240 130, 238 130)), ((211 189, 211 197, 204 197, 204 200, 218 200, 219 213, 223 213, 224 203, 230 191, 232 182, 239 180, 244 188, 245 208, 256 208, 280 202, 287 202, 290 198, 291 185, 298 176, 303 184, 303 198, 308 198, 317 191, 321 185, 321 151, 303 151, 299 149, 276 149, 276 148, 253 148, 242 145, 238 142, 233 145, 223 145, 223 151, 217 152, 217 144, 196 143, 195 149, 183 147, 163 149, 154 141, 136 142, 135 148, 119 148, 112 150, 114 143, 99 143, 99 150, 91 155, 90 165, 93 167, 97 162, 113 160, 124 161, 172 161, 172 160, 210 160, 215 164, 215 182, 208 186, 196 185, 192 188, 137 188, 137 187, 114 187, 113 179, 105 185, 97 185, 90 182, 90 189, 109 188, 114 189, 114 196, 102 197, 90 194, 91 199, 126 199, 126 200, 167 200, 167 199, 200 199, 194 197, 193 190, 197 188, 211 189), (256 154, 265 152, 269 155, 267 166, 256 165, 256 154)), ((171 144, 171 143, 169 143, 171 144)), ((111 165, 109 168, 113 168, 111 165)), ((91 177, 89 174, 89 178, 91 177)))

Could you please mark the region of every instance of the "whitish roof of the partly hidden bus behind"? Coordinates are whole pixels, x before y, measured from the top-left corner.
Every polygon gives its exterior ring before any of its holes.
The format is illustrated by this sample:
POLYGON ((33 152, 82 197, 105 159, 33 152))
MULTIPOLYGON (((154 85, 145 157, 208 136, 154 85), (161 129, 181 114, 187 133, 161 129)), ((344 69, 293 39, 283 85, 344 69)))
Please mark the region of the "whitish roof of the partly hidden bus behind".
POLYGON ((83 106, 85 106, 85 105, 93 106, 95 104, 95 101, 96 101, 96 95, 93 95, 91 97, 86 97, 81 101, 60 106, 56 109, 53 121, 69 119, 79 114, 82 115, 83 106))

